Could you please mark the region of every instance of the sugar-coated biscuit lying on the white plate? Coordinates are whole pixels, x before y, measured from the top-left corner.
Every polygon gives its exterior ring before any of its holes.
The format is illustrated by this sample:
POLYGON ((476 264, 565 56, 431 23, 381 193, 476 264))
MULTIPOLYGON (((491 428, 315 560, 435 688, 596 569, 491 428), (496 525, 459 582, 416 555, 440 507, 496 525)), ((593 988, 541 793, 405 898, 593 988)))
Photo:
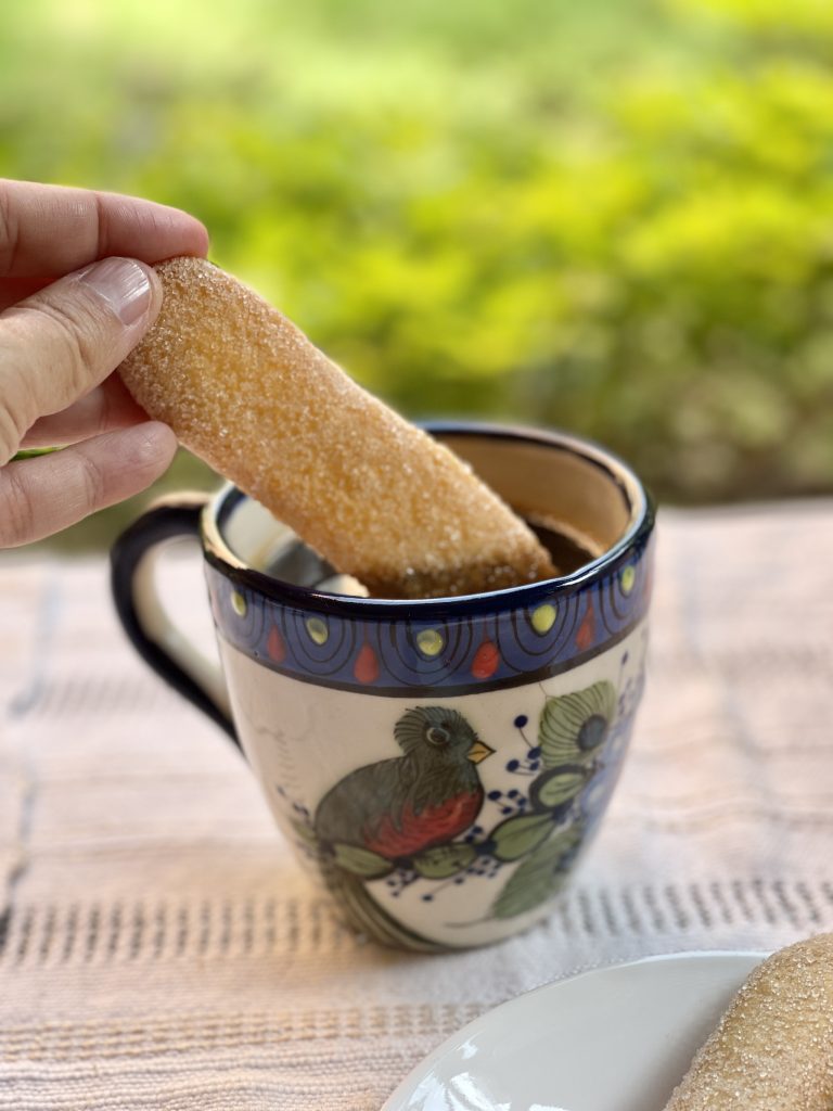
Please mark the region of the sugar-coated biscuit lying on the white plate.
POLYGON ((665 1111, 831 1111, 833 934, 782 949, 741 988, 665 1111))

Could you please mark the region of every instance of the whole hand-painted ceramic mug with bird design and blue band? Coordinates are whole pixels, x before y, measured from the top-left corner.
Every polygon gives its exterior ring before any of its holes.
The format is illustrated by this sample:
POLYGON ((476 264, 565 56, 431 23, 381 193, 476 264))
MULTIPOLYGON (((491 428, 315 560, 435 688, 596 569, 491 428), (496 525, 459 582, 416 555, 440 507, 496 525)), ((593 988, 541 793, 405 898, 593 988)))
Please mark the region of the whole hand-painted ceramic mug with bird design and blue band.
POLYGON ((234 487, 150 509, 112 551, 128 635, 240 745, 278 824, 379 941, 499 941, 553 899, 608 805, 643 687, 654 514, 603 449, 438 424, 539 527, 560 578, 419 601, 357 597, 234 487), (153 560, 204 554, 222 671, 172 627, 153 560))

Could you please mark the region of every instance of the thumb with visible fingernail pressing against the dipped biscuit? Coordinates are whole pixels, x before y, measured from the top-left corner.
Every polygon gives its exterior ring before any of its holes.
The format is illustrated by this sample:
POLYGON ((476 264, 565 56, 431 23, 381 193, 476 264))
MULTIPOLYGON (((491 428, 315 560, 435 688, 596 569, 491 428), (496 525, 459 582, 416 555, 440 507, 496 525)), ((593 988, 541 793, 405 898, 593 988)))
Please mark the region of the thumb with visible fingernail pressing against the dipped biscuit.
POLYGON ((84 397, 155 320, 162 291, 134 259, 103 259, 0 313, 0 467, 38 420, 84 397))

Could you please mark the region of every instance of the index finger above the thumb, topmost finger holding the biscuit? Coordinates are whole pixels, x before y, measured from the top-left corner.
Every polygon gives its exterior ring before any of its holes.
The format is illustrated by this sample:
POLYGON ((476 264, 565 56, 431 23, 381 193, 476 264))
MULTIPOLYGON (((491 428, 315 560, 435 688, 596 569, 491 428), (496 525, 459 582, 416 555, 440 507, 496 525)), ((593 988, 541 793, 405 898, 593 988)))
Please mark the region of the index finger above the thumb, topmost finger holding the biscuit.
POLYGON ((0 277, 58 278, 109 256, 204 256, 208 232, 167 204, 0 179, 0 277))

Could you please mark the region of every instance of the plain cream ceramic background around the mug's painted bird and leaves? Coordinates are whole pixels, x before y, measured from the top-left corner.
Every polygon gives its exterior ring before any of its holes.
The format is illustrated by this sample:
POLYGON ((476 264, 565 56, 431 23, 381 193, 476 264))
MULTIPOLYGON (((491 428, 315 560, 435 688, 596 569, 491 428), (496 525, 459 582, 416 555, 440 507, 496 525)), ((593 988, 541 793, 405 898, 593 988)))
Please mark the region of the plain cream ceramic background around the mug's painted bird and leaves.
MULTIPOLYGON (((519 714, 533 723, 525 735, 534 737, 532 730, 548 699, 606 682, 618 694, 616 714, 598 750, 599 771, 579 795, 579 805, 586 814, 582 851, 590 847, 628 750, 642 690, 646 643, 643 622, 609 651, 560 675, 442 700, 443 708, 461 713, 492 749, 492 754, 478 764, 486 794, 476 818, 481 831, 493 830, 504 821, 506 803, 513 801, 508 792, 518 795, 531 782, 531 773, 523 774, 523 769, 508 770, 513 759, 515 763, 524 761, 530 743, 513 725, 519 714), (495 791, 503 792, 496 801, 492 798, 495 791)), ((269 671, 222 639, 220 654, 247 759, 278 824, 295 844, 301 860, 313 867, 314 858, 304 852, 304 840, 299 838, 299 821, 312 829, 310 815, 329 790, 357 768, 399 755, 397 721, 409 710, 438 704, 438 700, 368 698, 364 693, 302 683, 269 671)), ((495 900, 525 859, 503 867, 495 862, 482 871, 465 870, 443 881, 418 875, 401 880, 397 874, 371 879, 364 883, 364 899, 405 929, 450 949, 489 944, 528 929, 552 910, 553 899, 548 897, 525 913, 494 913, 495 900)), ((313 873, 318 873, 317 865, 313 873)))

